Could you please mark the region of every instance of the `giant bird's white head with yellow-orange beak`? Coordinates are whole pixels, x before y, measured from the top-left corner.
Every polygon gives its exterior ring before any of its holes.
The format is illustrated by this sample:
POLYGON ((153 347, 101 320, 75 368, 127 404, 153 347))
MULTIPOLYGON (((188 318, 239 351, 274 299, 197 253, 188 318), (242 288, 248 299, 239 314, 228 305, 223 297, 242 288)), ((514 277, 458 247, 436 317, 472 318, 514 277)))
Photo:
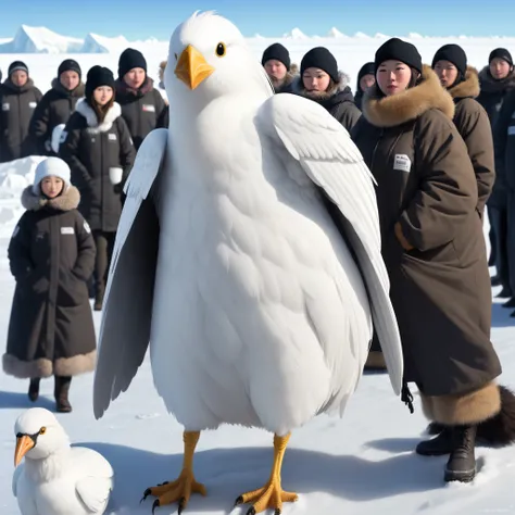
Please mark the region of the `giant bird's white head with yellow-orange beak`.
POLYGON ((172 35, 166 92, 171 104, 233 96, 254 85, 272 91, 266 74, 240 30, 213 12, 196 12, 172 35))

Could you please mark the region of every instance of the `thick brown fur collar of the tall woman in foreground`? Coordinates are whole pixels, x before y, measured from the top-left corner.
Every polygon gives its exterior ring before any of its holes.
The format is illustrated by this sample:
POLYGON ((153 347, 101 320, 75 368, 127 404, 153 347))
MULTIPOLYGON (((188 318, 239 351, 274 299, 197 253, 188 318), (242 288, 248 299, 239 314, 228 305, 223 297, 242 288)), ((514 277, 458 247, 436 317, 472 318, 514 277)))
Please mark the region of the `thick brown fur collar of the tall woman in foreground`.
POLYGON ((374 85, 363 96, 363 115, 377 127, 395 127, 417 118, 430 109, 438 109, 450 120, 454 116, 454 102, 440 84, 438 75, 427 64, 422 83, 391 97, 381 97, 374 85))

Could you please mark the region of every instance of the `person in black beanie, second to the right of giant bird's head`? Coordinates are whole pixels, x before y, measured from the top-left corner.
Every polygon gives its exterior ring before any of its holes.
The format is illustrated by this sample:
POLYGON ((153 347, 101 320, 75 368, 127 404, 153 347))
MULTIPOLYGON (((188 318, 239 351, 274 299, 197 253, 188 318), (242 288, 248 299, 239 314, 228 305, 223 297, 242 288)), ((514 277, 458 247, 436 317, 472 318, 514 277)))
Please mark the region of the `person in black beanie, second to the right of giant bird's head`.
POLYGON ((338 72, 335 56, 324 47, 316 47, 302 58, 292 92, 321 104, 349 133, 361 117, 349 87, 349 76, 338 72))

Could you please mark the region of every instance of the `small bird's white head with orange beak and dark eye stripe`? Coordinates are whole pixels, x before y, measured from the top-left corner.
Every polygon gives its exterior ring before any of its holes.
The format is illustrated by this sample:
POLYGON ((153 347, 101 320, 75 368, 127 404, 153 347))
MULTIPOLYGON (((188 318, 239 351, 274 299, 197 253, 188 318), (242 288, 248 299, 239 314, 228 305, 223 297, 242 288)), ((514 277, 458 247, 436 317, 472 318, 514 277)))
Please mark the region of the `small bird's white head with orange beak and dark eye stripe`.
POLYGON ((42 407, 24 412, 14 425, 16 450, 14 466, 23 460, 43 460, 51 454, 70 448, 70 440, 55 416, 42 407))

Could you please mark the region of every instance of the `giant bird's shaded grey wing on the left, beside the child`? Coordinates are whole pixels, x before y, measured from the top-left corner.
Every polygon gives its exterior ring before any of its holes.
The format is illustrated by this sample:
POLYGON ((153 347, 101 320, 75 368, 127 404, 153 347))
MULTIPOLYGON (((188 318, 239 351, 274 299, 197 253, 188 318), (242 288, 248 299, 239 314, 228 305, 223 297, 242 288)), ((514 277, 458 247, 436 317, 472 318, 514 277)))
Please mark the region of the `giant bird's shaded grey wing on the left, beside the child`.
POLYGON ((167 129, 150 133, 139 148, 125 186, 109 273, 93 385, 100 418, 111 400, 126 391, 149 346, 159 248, 159 172, 167 129))

